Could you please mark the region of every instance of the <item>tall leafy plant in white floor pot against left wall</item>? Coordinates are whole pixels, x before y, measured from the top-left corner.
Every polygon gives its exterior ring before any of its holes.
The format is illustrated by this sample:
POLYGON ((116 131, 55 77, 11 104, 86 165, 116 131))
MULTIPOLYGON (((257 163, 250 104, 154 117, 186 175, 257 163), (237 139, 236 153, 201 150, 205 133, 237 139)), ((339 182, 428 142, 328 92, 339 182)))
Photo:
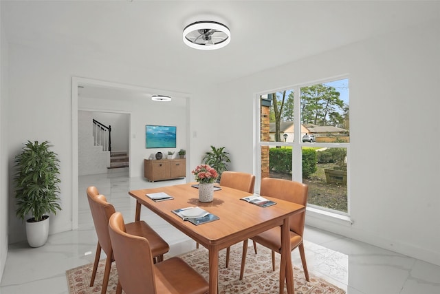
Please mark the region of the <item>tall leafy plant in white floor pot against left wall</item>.
POLYGON ((32 247, 43 246, 49 235, 49 213, 61 210, 58 187, 59 160, 50 143, 28 140, 14 158, 17 216, 26 219, 26 236, 32 247))

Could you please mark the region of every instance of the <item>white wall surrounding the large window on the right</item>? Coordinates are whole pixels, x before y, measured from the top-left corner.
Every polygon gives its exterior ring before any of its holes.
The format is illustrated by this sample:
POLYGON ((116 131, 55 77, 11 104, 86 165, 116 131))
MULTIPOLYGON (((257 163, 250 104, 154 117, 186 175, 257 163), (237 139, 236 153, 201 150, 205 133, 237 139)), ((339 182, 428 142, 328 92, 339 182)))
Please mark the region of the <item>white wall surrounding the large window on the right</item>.
POLYGON ((437 21, 221 85, 234 169, 250 168, 256 93, 349 74, 353 224, 310 212, 307 224, 440 264, 439 36, 437 21))

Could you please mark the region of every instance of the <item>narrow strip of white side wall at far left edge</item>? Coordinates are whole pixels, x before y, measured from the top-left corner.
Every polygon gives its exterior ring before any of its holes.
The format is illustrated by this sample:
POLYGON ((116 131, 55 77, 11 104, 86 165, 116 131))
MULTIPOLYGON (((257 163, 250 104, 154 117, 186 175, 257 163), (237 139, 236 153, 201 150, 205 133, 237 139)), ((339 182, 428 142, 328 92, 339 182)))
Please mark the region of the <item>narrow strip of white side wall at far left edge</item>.
MULTIPOLYGON (((1 7, 1 6, 0 6, 1 7)), ((1 10, 1 8, 0 8, 1 10)), ((8 42, 0 23, 0 280, 8 253, 8 190, 10 160, 6 142, 8 133, 8 42)))

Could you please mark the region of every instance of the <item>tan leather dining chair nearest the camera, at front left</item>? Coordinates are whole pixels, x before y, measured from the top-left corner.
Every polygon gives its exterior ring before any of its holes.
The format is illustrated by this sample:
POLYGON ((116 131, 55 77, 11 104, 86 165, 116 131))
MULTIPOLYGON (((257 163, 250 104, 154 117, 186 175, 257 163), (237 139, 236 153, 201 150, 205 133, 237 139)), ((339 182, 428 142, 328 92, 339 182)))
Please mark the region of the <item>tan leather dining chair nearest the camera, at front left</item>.
POLYGON ((181 258, 153 264, 150 240, 128 233, 120 212, 110 217, 109 235, 119 278, 116 294, 208 293, 208 282, 181 258))

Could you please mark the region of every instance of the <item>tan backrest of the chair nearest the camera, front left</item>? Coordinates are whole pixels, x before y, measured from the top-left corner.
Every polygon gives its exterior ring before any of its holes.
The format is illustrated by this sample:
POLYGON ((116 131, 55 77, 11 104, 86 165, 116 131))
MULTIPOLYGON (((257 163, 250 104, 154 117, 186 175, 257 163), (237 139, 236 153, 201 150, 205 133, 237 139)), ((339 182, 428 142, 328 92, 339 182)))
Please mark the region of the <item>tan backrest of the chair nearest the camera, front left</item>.
POLYGON ((120 212, 109 220, 109 235, 113 244, 119 282, 126 294, 156 293, 153 256, 148 240, 126 233, 120 212))

